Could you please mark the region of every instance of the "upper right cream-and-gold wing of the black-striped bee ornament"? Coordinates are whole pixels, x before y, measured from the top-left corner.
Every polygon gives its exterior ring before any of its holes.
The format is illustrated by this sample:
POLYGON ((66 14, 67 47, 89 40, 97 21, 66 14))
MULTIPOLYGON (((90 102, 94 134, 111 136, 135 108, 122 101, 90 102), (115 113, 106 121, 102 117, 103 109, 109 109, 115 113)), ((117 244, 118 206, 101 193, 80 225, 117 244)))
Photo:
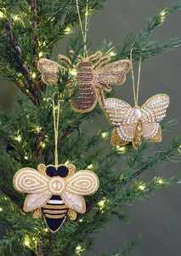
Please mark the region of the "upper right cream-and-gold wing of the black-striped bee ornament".
POLYGON ((91 171, 78 171, 66 179, 66 191, 73 195, 92 195, 99 189, 99 178, 91 171))

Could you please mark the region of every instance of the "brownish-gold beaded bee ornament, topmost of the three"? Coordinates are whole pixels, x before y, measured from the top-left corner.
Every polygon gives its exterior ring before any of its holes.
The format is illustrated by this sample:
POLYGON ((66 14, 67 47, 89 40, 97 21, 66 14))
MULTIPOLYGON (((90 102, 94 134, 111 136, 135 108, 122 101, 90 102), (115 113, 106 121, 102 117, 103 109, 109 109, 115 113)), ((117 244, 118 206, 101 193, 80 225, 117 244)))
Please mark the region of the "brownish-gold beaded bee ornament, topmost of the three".
MULTIPOLYGON (((73 58, 74 51, 71 50, 70 55, 73 58)), ((112 90, 110 85, 123 84, 126 73, 131 69, 131 62, 128 60, 106 64, 110 61, 110 56, 102 56, 101 51, 87 58, 78 55, 76 65, 72 65, 71 60, 65 55, 59 55, 58 59, 63 61, 66 67, 77 70, 75 81, 79 85, 79 96, 71 99, 71 107, 76 112, 82 113, 91 111, 97 102, 104 107, 104 90, 110 92, 112 90)), ((55 61, 45 58, 38 61, 37 68, 42 73, 44 84, 56 84, 59 70, 65 70, 65 67, 55 61)), ((75 83, 75 81, 72 82, 75 83)))

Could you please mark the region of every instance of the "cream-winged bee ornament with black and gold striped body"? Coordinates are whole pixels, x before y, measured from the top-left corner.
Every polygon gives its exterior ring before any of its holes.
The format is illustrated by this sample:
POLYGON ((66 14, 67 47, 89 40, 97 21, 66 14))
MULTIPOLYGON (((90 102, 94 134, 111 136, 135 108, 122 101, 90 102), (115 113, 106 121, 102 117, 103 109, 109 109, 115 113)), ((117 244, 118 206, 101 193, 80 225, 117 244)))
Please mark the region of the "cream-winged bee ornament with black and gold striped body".
POLYGON ((34 211, 34 218, 43 214, 52 232, 59 230, 66 214, 74 220, 76 212, 86 212, 82 195, 92 195, 99 188, 99 178, 94 172, 76 171, 76 166, 44 166, 37 170, 25 167, 14 175, 14 188, 28 193, 24 211, 34 211), (76 211, 76 212, 75 212, 76 211))

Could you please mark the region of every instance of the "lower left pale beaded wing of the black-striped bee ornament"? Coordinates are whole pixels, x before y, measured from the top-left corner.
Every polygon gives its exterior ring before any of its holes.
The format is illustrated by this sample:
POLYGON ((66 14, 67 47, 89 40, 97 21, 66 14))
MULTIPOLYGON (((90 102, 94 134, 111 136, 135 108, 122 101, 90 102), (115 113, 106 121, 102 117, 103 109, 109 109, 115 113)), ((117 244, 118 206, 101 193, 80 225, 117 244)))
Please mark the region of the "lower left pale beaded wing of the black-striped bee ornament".
POLYGON ((25 198, 24 211, 31 212, 37 208, 43 207, 49 198, 52 196, 52 193, 49 191, 44 191, 41 194, 32 194, 27 195, 25 198))

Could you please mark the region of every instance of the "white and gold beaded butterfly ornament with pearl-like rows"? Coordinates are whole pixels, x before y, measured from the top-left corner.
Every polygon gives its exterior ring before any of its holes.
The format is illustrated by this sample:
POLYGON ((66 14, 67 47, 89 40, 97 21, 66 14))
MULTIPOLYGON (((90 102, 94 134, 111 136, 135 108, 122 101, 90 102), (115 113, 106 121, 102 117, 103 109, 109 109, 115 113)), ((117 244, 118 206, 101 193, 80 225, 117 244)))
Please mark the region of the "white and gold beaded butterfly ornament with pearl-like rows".
POLYGON ((166 115, 169 97, 164 94, 152 96, 140 108, 131 108, 127 102, 118 99, 106 99, 103 108, 110 125, 115 128, 110 144, 112 146, 133 143, 133 148, 141 144, 143 139, 150 142, 161 142, 161 126, 158 123, 166 115))

